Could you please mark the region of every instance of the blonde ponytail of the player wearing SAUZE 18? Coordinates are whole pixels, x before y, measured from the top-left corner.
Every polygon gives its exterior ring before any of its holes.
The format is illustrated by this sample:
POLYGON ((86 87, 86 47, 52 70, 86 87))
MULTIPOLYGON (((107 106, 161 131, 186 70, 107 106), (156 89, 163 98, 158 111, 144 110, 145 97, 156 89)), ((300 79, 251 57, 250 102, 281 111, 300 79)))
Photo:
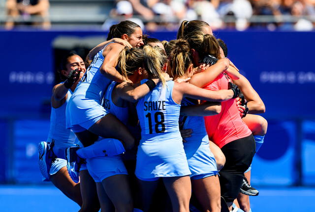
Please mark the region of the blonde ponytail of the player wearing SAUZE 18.
POLYGON ((166 63, 166 54, 163 49, 159 47, 151 47, 149 45, 143 47, 144 52, 144 68, 149 76, 158 77, 163 86, 166 81, 162 75, 162 68, 166 63))

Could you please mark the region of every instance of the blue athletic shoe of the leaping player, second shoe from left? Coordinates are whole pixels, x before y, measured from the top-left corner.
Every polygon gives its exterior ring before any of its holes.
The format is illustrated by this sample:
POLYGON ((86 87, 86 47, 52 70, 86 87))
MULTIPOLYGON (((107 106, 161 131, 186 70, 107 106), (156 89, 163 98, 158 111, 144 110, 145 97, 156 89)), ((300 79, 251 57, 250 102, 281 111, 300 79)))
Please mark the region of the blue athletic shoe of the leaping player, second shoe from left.
POLYGON ((65 158, 67 159, 67 170, 70 178, 74 183, 79 182, 79 171, 82 159, 76 154, 80 147, 68 147, 65 150, 65 158))

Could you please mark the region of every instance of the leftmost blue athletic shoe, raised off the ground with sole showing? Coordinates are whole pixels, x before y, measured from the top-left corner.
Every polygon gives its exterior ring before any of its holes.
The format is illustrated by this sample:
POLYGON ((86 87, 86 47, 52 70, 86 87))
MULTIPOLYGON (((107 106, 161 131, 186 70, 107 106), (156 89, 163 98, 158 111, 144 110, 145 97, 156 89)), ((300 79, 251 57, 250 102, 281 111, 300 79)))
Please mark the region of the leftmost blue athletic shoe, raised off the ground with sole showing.
POLYGON ((39 154, 39 170, 45 180, 49 180, 49 172, 51 168, 51 163, 56 158, 55 154, 51 150, 51 143, 46 141, 41 141, 38 143, 38 154, 39 154))

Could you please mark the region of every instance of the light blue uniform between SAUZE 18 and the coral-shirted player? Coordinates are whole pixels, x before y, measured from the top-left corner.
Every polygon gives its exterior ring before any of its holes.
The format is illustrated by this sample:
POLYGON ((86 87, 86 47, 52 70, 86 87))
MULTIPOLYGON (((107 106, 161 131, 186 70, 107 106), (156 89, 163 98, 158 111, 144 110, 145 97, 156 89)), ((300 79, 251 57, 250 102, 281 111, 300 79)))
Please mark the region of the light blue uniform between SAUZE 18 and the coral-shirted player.
MULTIPOLYGON (((182 100, 182 106, 195 105, 188 98, 182 100)), ((209 147, 209 138, 201 116, 180 116, 183 129, 191 129, 191 137, 185 138, 184 150, 187 156, 191 179, 201 179, 218 174, 217 163, 209 147), (182 123, 183 124, 183 123, 182 123)))

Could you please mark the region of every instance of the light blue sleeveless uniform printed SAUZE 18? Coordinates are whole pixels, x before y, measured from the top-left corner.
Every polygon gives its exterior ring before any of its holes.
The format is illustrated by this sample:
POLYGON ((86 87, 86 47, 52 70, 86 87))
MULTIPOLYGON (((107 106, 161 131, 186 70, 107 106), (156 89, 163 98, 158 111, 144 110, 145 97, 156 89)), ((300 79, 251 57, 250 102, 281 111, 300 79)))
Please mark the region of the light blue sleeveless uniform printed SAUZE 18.
POLYGON ((135 174, 144 181, 190 174, 178 125, 181 105, 172 98, 173 87, 174 81, 164 87, 159 83, 136 106, 141 140, 135 174))

